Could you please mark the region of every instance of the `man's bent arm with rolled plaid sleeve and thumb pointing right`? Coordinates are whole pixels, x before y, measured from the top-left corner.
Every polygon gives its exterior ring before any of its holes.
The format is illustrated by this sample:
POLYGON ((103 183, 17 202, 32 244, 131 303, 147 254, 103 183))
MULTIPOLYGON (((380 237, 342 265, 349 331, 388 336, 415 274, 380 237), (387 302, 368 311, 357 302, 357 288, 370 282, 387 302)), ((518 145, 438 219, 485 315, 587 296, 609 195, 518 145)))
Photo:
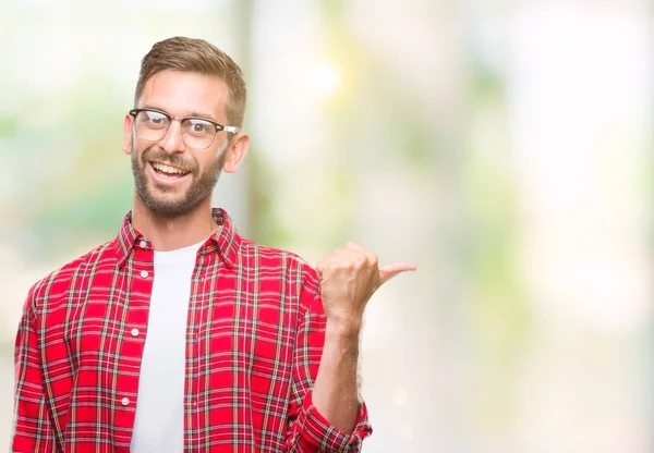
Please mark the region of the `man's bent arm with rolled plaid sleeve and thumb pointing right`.
MULTIPOLYGON (((284 451, 361 450, 362 440, 372 433, 367 409, 358 397, 363 311, 382 284, 414 269, 407 262, 379 269, 376 256, 352 243, 318 262, 319 287, 313 291, 295 342, 291 390, 295 403, 284 451)), ((311 283, 305 286, 310 287, 303 291, 313 290, 311 283)))

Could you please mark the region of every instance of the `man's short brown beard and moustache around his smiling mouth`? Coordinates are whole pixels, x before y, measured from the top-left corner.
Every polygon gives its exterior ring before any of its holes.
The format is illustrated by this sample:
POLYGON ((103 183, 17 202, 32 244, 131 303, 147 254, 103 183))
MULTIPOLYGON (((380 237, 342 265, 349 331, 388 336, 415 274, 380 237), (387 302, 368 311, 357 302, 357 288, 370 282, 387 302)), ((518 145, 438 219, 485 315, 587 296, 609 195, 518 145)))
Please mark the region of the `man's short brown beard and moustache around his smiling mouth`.
POLYGON ((132 173, 136 195, 145 207, 153 213, 165 217, 178 217, 193 211, 202 201, 211 197, 218 177, 225 166, 226 152, 229 142, 217 152, 219 156, 204 170, 199 169, 197 161, 185 159, 179 154, 169 154, 160 148, 146 148, 141 156, 136 151, 136 144, 132 140, 132 173), (185 177, 191 177, 190 185, 181 187, 159 186, 148 177, 149 161, 158 161, 178 167, 187 171, 185 177))

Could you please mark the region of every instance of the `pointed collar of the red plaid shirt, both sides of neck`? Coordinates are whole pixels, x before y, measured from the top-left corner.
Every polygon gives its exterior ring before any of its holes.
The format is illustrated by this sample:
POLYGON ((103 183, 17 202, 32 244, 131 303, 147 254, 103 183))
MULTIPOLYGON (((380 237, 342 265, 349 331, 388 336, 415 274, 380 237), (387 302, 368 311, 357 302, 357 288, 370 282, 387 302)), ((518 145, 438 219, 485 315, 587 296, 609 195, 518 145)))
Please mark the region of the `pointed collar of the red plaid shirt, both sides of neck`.
MULTIPOLYGON (((229 269, 233 269, 237 265, 237 258, 241 248, 241 236, 232 225, 227 211, 221 208, 211 210, 214 221, 218 225, 218 230, 211 234, 201 248, 201 255, 217 252, 222 261, 229 269)), ((141 241, 145 241, 147 247, 152 247, 152 243, 143 234, 132 226, 132 211, 128 212, 123 219, 122 226, 116 237, 116 256, 118 266, 122 267, 132 254, 132 248, 141 245, 141 241)))

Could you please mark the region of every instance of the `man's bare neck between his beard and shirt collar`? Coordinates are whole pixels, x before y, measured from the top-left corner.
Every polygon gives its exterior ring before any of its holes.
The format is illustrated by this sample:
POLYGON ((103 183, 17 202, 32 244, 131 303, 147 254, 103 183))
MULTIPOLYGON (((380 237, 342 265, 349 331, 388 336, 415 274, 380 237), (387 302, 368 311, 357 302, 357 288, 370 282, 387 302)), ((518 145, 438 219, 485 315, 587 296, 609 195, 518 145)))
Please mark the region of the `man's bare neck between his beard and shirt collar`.
POLYGON ((207 198, 191 212, 166 216, 149 210, 135 195, 132 226, 149 238, 158 252, 177 250, 197 244, 216 231, 211 199, 207 198))

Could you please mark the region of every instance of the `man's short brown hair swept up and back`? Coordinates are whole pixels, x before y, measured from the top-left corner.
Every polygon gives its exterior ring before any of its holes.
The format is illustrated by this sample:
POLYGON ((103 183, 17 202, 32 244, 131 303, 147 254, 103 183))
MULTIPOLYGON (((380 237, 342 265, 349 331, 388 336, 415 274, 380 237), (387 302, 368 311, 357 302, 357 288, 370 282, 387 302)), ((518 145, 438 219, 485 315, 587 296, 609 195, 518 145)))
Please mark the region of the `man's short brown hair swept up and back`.
POLYGON ((168 38, 153 46, 141 61, 141 72, 134 94, 134 107, 149 77, 166 70, 196 72, 221 78, 229 89, 226 113, 230 126, 241 127, 245 114, 245 81, 241 68, 233 60, 204 39, 182 36, 168 38))

